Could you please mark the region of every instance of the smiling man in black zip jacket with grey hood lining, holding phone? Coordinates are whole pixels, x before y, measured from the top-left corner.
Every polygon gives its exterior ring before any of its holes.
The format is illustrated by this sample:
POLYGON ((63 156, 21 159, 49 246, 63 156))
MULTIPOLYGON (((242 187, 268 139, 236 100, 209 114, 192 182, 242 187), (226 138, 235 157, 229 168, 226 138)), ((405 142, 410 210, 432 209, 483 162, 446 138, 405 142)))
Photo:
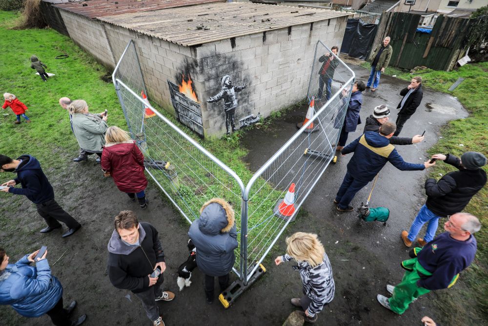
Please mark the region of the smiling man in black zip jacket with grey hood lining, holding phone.
POLYGON ((153 325, 164 326, 156 301, 171 301, 175 294, 162 288, 166 263, 158 231, 147 222, 139 222, 132 211, 120 212, 114 224, 108 242, 110 282, 119 289, 132 291, 141 299, 153 325), (161 274, 152 277, 157 268, 161 274))

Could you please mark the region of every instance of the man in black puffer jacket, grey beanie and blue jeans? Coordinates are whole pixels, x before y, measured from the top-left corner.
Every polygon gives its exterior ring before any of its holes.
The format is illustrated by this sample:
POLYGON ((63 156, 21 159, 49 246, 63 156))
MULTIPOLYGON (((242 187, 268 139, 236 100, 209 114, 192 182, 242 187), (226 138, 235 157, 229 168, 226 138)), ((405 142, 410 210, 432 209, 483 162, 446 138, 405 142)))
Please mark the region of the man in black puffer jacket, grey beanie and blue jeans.
POLYGON ((482 153, 466 152, 461 155, 461 159, 452 154, 435 154, 432 158, 445 161, 459 171, 444 175, 438 182, 432 178, 427 179, 427 202, 415 217, 410 232, 402 232, 407 247, 412 245, 422 226, 428 222, 424 239, 417 239, 421 246, 426 245, 435 236, 439 218, 462 212, 469 200, 487 183, 487 174, 481 169, 487 164, 487 158, 482 153))

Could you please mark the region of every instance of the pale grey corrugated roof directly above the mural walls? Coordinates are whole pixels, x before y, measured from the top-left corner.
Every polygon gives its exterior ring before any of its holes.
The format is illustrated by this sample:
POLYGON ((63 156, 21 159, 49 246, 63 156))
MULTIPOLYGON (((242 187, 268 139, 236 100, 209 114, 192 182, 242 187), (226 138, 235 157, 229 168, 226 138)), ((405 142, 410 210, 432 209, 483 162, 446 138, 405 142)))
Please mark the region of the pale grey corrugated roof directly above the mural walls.
POLYGON ((349 15, 329 9, 226 2, 99 19, 188 46, 349 15))

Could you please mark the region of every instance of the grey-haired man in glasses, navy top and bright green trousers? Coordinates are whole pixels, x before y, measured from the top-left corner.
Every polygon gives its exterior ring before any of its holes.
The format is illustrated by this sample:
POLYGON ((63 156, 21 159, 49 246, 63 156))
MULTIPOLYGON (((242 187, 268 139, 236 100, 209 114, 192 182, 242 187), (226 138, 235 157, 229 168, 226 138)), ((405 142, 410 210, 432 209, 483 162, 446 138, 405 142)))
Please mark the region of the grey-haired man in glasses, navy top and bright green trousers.
POLYGON ((423 248, 412 249, 412 259, 402 261, 402 267, 407 270, 402 282, 395 286, 386 285, 391 298, 378 294, 377 300, 401 315, 419 296, 454 285, 459 273, 474 260, 476 238, 473 234, 480 229, 480 221, 471 214, 456 213, 448 217, 444 223, 446 232, 423 248))

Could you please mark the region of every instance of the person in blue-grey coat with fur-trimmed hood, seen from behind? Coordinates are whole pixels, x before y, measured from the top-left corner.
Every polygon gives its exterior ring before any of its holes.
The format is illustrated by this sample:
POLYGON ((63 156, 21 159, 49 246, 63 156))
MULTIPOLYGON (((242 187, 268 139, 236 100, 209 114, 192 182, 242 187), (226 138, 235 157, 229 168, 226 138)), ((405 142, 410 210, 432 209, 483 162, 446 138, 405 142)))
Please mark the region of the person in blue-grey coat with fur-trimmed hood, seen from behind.
POLYGON ((200 218, 191 223, 188 236, 197 248, 197 266, 205 274, 206 299, 212 304, 214 278, 219 278, 224 291, 236 260, 234 249, 239 244, 232 206, 222 198, 207 201, 200 209, 200 218))

